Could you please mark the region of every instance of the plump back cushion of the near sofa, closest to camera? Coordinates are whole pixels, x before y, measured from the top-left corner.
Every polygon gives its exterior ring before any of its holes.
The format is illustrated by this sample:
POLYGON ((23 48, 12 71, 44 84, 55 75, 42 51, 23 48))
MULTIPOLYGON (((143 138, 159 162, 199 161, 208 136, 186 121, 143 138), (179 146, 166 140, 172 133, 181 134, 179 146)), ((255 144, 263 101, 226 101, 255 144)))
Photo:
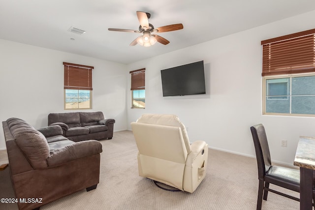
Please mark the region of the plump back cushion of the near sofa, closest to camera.
POLYGON ((23 151, 32 167, 47 168, 49 146, 45 136, 24 120, 10 118, 6 122, 17 146, 23 151))

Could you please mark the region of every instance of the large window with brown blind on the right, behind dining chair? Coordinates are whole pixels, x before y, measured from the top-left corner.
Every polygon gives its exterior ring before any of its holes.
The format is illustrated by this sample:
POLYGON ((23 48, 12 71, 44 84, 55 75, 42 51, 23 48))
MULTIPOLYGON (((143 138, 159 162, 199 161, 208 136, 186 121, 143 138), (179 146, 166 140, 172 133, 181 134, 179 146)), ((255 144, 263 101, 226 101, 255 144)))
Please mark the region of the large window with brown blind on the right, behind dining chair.
POLYGON ((263 114, 315 115, 315 30, 261 41, 263 114))

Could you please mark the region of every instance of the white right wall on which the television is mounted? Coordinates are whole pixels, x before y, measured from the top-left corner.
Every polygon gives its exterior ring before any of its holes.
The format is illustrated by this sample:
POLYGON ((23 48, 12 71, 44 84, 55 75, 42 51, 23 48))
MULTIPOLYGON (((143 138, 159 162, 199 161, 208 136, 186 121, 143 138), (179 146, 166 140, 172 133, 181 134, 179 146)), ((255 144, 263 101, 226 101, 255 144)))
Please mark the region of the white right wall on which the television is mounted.
POLYGON ((293 165, 299 136, 315 136, 315 118, 262 116, 260 41, 314 29, 314 17, 315 11, 305 13, 129 64, 129 71, 146 68, 146 109, 127 107, 128 129, 144 113, 176 114, 190 142, 204 140, 210 148, 254 157, 250 126, 263 123, 272 160, 293 165), (199 60, 205 63, 206 95, 163 97, 160 70, 199 60))

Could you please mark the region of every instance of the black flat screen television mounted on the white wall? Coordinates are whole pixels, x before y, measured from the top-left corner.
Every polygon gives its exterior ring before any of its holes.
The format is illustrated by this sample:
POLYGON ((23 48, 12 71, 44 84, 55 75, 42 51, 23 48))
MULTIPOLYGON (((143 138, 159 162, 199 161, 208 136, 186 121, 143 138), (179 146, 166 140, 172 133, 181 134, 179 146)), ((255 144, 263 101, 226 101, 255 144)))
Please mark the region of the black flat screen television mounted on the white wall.
POLYGON ((206 94, 203 60, 161 70, 163 96, 206 94))

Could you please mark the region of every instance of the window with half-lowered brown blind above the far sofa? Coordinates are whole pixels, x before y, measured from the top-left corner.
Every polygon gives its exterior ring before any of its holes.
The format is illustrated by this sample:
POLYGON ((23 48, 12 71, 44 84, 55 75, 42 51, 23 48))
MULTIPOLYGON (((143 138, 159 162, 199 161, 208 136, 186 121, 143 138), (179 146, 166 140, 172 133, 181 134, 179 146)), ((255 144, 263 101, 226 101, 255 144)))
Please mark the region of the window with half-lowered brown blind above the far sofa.
POLYGON ((92 69, 74 63, 63 62, 64 109, 92 109, 92 69))

